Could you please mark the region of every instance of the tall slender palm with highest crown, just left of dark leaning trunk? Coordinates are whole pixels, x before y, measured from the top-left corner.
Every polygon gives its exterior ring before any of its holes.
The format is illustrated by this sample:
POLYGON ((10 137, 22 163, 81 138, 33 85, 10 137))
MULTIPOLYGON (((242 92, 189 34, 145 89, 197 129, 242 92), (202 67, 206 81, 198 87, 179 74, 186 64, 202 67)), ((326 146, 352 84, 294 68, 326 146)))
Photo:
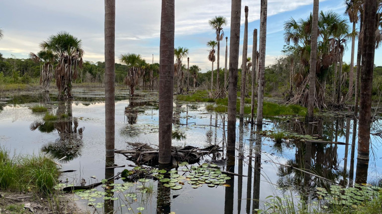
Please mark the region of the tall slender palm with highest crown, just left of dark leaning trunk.
POLYGON ((217 41, 216 89, 219 90, 220 41, 222 41, 224 38, 223 26, 227 25, 227 19, 223 16, 215 16, 215 18, 208 20, 208 24, 216 32, 216 41, 217 41))

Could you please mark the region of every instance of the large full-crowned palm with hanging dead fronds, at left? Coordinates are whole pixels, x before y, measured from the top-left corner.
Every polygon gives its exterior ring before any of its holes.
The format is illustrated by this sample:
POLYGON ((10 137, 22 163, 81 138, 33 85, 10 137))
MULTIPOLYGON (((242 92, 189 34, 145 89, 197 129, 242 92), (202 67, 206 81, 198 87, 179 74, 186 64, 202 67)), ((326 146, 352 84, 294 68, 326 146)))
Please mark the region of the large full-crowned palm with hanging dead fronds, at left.
POLYGON ((77 79, 78 68, 82 68, 82 40, 61 31, 40 44, 42 50, 51 51, 58 57, 55 78, 59 97, 72 98, 72 81, 77 79))

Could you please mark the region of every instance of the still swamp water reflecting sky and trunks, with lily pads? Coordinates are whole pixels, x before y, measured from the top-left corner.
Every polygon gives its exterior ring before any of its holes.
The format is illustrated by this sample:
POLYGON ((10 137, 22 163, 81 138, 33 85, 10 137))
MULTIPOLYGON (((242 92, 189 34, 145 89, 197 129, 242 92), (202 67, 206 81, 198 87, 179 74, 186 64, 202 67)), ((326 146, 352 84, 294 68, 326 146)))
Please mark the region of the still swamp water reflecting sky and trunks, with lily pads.
MULTIPOLYGON (((116 91, 115 149, 131 149, 126 142, 144 143, 155 148, 158 145, 158 94, 139 93, 138 97, 131 100, 125 94, 125 91, 116 91)), ((125 168, 132 170, 134 166, 129 164, 135 163, 126 160, 121 154, 115 154, 114 163, 126 167, 105 168, 103 92, 76 89, 73 95, 75 100, 67 102, 56 101, 55 94, 50 97, 46 94, 1 97, 0 147, 15 154, 46 153, 57 160, 66 156, 66 159, 60 161, 62 170, 76 171, 63 173, 60 179, 74 185, 89 185, 112 177, 125 168), (45 113, 32 113, 30 107, 36 105, 48 107, 48 112, 61 118, 57 121, 44 121, 42 118, 45 113)), ((306 195, 315 200, 317 187, 328 188, 335 184, 276 163, 307 169, 313 174, 345 185, 350 182, 349 176, 355 176, 357 148, 353 153, 353 119, 346 118, 343 113, 322 113, 318 122, 310 128, 300 122, 303 121, 301 117, 266 118, 262 128, 263 136, 255 134, 255 128, 251 131, 250 124, 237 120, 236 160, 227 162, 221 161, 226 158, 226 145, 223 145, 226 135, 226 121, 223 118, 226 115, 207 111, 205 105, 181 103, 174 99, 173 146, 205 148, 219 145, 223 152, 203 156, 199 163, 181 164, 179 168, 170 171, 171 175, 167 175, 177 179, 174 188, 169 188, 173 184, 152 179, 141 179, 135 183, 118 179, 111 186, 102 185, 73 194, 74 201, 91 213, 96 209, 95 213, 114 211, 122 214, 250 214, 254 209, 263 209, 270 195, 291 195, 297 201, 306 195), (264 136, 279 132, 284 132, 285 138, 289 139, 275 143, 273 139, 264 136), (309 133, 319 139, 338 142, 346 142, 347 136, 350 136, 350 145, 305 144, 296 140, 310 139, 304 136, 309 133), (248 177, 220 177, 219 171, 248 177), (201 172, 205 173, 202 176, 205 179, 190 184, 190 177, 195 178, 193 175, 201 172), (210 181, 215 185, 208 186, 210 181), (88 206, 90 203, 94 206, 88 206)), ((381 132, 379 120, 373 123, 372 132, 381 132)), ((378 182, 382 171, 382 153, 378 150, 380 137, 373 135, 371 138, 374 156, 370 160, 368 181, 378 182)), ((155 171, 155 174, 161 173, 155 171)))

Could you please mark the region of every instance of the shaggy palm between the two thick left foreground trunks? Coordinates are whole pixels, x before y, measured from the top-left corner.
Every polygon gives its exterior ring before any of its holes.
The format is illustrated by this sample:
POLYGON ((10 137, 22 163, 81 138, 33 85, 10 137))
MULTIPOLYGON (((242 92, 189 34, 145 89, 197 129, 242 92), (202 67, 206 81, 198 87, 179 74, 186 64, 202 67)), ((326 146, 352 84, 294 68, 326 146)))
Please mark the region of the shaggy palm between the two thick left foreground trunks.
POLYGON ((130 96, 134 96, 135 86, 139 83, 141 73, 142 58, 140 54, 121 54, 119 60, 127 65, 129 72, 125 77, 124 83, 130 86, 130 96))

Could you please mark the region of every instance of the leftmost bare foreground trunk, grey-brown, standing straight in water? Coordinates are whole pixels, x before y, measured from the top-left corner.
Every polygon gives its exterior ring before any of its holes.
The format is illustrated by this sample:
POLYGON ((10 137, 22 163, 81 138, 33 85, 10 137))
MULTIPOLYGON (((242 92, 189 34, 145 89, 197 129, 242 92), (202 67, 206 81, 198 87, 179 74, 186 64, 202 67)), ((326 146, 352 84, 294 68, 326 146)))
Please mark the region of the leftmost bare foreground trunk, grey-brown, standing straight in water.
POLYGON ((105 157, 114 159, 115 0, 105 0, 105 157))

